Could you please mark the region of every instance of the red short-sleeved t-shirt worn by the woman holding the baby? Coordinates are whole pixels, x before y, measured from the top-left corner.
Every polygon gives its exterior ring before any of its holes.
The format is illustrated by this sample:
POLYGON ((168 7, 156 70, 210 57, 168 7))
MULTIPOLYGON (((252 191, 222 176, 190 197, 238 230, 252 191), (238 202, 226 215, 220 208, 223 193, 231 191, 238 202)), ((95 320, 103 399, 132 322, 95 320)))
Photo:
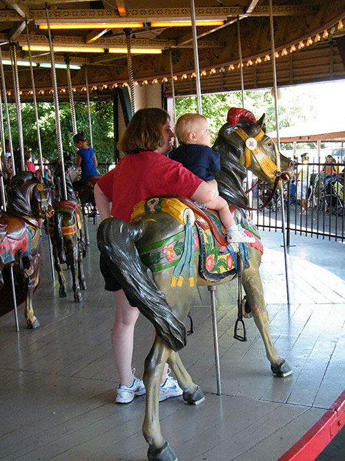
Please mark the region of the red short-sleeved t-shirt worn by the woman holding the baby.
POLYGON ((158 152, 139 152, 122 158, 97 185, 112 202, 111 215, 130 222, 134 206, 148 197, 179 195, 190 198, 202 180, 158 152))

